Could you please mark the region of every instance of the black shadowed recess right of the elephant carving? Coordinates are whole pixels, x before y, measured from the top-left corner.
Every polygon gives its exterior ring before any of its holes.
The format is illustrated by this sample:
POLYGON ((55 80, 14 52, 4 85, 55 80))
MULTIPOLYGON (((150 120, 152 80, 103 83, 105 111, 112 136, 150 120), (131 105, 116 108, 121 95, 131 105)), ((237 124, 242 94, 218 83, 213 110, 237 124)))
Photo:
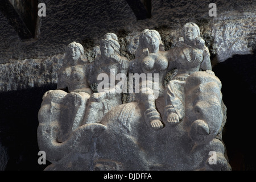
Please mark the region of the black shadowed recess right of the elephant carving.
POLYGON ((256 169, 255 98, 256 54, 234 55, 213 68, 222 82, 222 100, 227 107, 227 119, 222 139, 232 170, 256 169))

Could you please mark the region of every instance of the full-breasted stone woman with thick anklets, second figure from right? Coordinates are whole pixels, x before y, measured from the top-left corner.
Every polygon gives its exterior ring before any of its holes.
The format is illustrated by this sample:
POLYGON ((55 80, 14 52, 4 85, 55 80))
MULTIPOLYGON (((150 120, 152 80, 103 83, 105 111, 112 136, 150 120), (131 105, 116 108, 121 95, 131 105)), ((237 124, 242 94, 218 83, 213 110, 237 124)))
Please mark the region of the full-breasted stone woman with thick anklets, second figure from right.
POLYGON ((162 56, 163 51, 159 32, 146 29, 139 36, 137 55, 130 64, 131 73, 146 74, 147 79, 139 82, 140 90, 135 97, 145 106, 144 116, 156 130, 163 127, 162 118, 155 105, 155 99, 163 96, 163 80, 168 68, 168 61, 162 56), (155 73, 157 78, 153 76, 155 73))

